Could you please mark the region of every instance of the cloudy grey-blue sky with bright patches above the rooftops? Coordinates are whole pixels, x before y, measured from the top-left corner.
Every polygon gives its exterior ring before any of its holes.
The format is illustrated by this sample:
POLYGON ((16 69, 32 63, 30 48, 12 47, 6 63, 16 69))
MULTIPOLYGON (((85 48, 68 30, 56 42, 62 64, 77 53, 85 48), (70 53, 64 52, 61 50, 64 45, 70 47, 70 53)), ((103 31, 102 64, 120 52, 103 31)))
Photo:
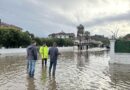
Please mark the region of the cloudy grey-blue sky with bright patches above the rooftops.
POLYGON ((0 0, 0 18, 39 37, 77 32, 83 24, 92 35, 130 33, 130 0, 0 0))

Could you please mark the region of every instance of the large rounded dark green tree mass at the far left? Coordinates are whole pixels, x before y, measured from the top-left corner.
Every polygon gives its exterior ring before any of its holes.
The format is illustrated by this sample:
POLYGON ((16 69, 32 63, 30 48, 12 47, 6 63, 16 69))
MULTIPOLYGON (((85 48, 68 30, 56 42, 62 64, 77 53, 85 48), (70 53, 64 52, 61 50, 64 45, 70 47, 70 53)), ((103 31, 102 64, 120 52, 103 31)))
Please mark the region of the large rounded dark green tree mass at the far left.
POLYGON ((0 39, 0 46, 6 48, 26 47, 31 42, 31 38, 26 32, 15 28, 0 27, 0 39))

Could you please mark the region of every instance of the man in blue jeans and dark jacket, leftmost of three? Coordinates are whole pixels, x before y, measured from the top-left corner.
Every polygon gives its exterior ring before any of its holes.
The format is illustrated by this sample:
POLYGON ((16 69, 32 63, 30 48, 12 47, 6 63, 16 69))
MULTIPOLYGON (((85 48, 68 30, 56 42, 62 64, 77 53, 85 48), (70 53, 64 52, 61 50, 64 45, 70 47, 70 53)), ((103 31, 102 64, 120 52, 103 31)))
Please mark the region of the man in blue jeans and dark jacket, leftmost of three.
POLYGON ((37 60, 37 49, 36 49, 36 42, 33 41, 31 45, 27 47, 27 59, 28 59, 28 74, 30 77, 34 76, 35 72, 35 63, 37 60))

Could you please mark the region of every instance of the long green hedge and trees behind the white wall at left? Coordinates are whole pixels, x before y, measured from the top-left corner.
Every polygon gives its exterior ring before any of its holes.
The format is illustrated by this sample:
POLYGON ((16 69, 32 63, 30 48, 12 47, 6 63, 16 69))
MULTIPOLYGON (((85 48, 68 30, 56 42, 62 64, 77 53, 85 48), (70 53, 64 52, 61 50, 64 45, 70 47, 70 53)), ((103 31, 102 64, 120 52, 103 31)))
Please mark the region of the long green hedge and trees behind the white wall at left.
POLYGON ((43 43, 52 46, 53 42, 56 42, 60 47, 73 46, 73 40, 71 39, 39 38, 28 31, 23 32, 22 30, 10 27, 0 27, 0 39, 0 47, 6 48, 27 47, 32 40, 35 40, 38 46, 41 46, 43 43))

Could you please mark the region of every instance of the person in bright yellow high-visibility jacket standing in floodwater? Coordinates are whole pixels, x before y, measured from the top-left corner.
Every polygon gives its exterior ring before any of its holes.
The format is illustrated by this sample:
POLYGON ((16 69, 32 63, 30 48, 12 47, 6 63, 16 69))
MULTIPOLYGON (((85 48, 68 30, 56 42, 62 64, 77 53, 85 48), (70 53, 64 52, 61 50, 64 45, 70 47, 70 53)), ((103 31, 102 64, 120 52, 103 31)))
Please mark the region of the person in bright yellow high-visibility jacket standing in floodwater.
POLYGON ((47 66, 48 47, 47 47, 46 43, 40 47, 39 52, 40 52, 41 57, 42 57, 42 67, 44 66, 44 63, 45 63, 45 66, 47 66))

